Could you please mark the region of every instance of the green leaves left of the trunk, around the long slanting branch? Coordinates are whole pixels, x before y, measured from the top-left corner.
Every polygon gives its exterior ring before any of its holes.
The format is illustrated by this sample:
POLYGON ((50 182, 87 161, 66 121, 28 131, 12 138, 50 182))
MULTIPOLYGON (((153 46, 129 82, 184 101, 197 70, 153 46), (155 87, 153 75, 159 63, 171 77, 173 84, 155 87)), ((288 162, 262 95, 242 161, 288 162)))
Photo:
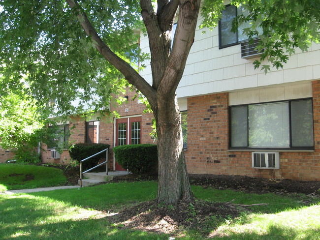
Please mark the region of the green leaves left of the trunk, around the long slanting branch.
MULTIPOLYGON (((138 2, 82 1, 81 7, 93 13, 91 22, 122 59, 146 59, 133 31, 141 28, 138 2)), ((50 107, 56 116, 69 116, 108 107, 111 93, 123 92, 128 85, 118 70, 102 60, 78 24, 75 10, 64 1, 1 0, 0 9, 0 72, 6 88, 20 89, 23 78, 39 106, 50 107)))

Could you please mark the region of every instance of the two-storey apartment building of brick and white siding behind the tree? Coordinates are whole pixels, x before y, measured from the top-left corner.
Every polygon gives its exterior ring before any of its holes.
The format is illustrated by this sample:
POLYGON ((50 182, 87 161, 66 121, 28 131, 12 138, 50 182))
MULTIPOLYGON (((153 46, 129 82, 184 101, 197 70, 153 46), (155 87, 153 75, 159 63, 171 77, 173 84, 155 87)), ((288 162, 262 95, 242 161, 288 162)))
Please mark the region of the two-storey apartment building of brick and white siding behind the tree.
MULTIPOLYGON (((237 34, 224 36, 223 28, 206 34, 196 30, 177 89, 180 110, 188 117, 188 172, 319 181, 320 44, 313 44, 308 52, 297 50, 284 68, 264 74, 254 69, 256 53, 241 49, 248 46, 246 40, 237 34)), ((150 52, 143 34, 140 47, 150 52)), ((150 62, 143 64, 141 75, 151 83, 150 62)), ((132 94, 128 92, 126 104, 111 109, 121 119, 89 121, 96 124, 95 141, 110 144, 112 150, 124 130, 119 127, 126 125, 126 143, 131 141, 129 132, 138 129, 139 143, 154 142, 149 135, 153 116, 142 114, 144 105, 130 101, 132 94)), ((69 141, 85 142, 89 123, 74 118, 68 124, 75 125, 69 141)), ((42 154, 43 161, 68 159, 66 151, 60 159, 52 159, 49 153, 42 154)), ((113 160, 109 164, 116 168, 113 160)))

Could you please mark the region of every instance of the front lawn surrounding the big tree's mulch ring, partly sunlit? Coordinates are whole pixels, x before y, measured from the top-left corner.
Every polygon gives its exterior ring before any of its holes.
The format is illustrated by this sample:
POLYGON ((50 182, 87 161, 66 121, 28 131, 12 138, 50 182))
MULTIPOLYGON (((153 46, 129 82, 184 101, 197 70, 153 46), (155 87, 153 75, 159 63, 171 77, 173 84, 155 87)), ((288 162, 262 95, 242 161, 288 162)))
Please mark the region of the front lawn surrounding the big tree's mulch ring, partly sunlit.
POLYGON ((252 207, 237 219, 222 219, 207 229, 180 236, 119 229, 105 212, 154 199, 157 183, 121 182, 50 192, 0 196, 0 238, 3 240, 320 240, 320 200, 304 195, 248 194, 192 186, 195 196, 252 207), (313 201, 308 206, 306 200, 313 201))

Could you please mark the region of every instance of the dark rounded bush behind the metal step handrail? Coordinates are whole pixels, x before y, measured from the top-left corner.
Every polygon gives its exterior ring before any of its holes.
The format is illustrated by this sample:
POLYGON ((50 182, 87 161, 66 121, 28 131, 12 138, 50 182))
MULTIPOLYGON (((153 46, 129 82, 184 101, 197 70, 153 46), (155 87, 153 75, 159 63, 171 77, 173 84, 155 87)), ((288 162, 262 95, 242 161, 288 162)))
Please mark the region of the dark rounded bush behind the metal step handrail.
MULTIPOLYGON (((80 163, 81 160, 108 149, 110 145, 102 143, 78 143, 69 150, 70 157, 80 163)), ((83 170, 95 167, 100 159, 105 158, 105 152, 98 154, 85 162, 82 162, 83 170)))

